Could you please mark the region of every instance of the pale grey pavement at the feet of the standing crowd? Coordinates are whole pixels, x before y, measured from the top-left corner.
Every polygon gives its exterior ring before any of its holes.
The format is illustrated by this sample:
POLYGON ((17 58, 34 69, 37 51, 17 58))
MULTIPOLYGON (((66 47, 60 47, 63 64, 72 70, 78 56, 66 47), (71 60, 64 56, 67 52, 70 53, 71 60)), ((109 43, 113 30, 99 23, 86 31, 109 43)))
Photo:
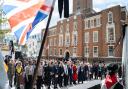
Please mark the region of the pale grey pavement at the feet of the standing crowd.
MULTIPOLYGON (((58 89, 89 89, 90 87, 93 87, 98 84, 101 84, 101 80, 85 81, 83 84, 77 84, 77 85, 67 86, 63 88, 58 87, 58 89)), ((15 89, 15 87, 11 89, 15 89)), ((42 89, 47 89, 47 88, 43 86, 42 89)), ((51 89, 54 89, 53 86, 51 86, 51 89)), ((95 89, 95 88, 92 88, 92 89, 95 89)))

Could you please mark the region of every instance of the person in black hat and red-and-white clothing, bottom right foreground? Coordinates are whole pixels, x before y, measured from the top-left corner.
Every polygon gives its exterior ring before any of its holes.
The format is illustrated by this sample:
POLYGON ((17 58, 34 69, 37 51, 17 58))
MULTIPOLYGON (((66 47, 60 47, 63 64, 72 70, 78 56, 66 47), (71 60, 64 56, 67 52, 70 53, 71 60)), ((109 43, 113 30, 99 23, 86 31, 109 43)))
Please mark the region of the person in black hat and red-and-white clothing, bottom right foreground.
POLYGON ((109 64, 107 66, 108 74, 106 78, 102 81, 101 89, 123 89, 123 85, 118 81, 117 64, 109 64))

